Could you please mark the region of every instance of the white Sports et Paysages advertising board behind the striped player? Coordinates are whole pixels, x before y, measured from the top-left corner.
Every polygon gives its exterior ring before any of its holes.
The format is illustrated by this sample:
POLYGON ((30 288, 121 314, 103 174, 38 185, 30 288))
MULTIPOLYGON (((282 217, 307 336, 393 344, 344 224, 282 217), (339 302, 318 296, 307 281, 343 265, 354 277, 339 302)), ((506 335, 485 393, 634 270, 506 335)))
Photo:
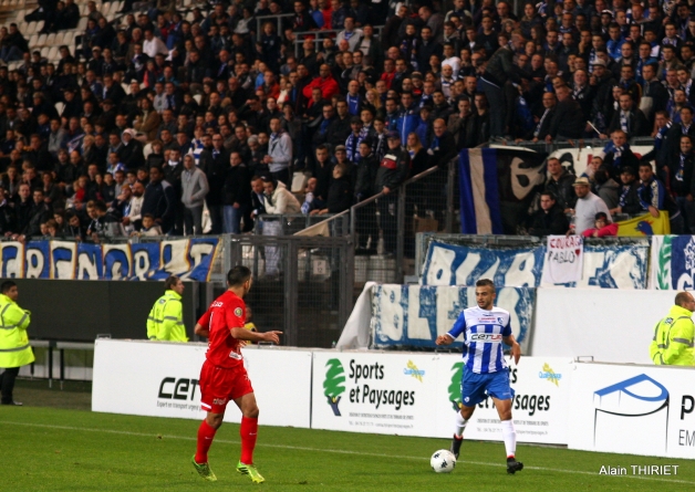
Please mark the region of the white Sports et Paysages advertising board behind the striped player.
MULTIPOLYGON (((567 442, 569 358, 522 357, 510 369, 519 442, 567 442)), ((312 428, 450 438, 460 409, 460 355, 314 353, 312 428)), ((501 440, 491 399, 466 437, 501 440)))

